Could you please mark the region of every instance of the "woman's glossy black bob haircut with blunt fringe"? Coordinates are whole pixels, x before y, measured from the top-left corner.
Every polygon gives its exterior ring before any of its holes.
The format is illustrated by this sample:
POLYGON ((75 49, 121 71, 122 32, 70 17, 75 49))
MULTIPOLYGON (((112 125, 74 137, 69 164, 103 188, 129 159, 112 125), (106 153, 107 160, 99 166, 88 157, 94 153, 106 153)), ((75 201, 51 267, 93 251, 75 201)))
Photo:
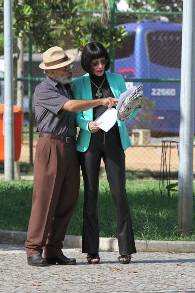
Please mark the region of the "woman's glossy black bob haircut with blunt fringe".
POLYGON ((90 42, 85 45, 81 54, 81 66, 88 72, 92 73, 91 61, 99 58, 106 58, 108 60, 105 65, 105 71, 110 68, 110 56, 105 47, 98 42, 90 42))

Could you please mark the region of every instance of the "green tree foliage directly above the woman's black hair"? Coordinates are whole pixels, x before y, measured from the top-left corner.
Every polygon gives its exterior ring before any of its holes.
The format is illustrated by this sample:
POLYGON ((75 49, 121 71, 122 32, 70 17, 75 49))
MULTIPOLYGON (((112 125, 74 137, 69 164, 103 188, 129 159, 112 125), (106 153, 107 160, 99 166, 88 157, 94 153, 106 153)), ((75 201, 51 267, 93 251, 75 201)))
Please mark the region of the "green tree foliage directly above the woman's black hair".
POLYGON ((109 51, 127 35, 123 26, 110 30, 110 0, 75 0, 75 4, 77 24, 71 31, 72 47, 82 50, 87 42, 97 41, 109 51))

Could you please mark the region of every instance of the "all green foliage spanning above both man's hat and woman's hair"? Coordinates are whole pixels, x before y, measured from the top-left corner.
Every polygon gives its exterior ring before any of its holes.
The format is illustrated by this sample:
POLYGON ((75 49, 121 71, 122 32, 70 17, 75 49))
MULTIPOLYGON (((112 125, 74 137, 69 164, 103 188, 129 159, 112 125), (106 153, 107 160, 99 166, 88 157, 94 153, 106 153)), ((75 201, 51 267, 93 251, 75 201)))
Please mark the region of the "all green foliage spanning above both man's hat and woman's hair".
MULTIPOLYGON (((111 32, 110 15, 107 13, 79 13, 79 9, 86 9, 85 4, 86 1, 83 0, 13 0, 15 42, 18 36, 22 37, 26 44, 31 38, 36 51, 54 45, 66 49, 82 49, 89 41, 101 41, 109 48, 111 44, 120 42, 126 34, 124 28, 115 28, 111 32)), ((105 10, 107 5, 104 1, 94 3, 89 0, 87 9, 93 11, 99 7, 99 10, 105 10)), ((0 34, 3 34, 3 0, 0 0, 0 8, 0 34)))

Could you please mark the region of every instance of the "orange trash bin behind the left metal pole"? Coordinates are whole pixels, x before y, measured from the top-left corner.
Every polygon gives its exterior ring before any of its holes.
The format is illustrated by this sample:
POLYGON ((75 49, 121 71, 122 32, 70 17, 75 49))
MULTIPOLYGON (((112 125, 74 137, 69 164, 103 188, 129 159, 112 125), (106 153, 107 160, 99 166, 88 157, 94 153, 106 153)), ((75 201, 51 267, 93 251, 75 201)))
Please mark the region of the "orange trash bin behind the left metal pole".
MULTIPOLYGON (((14 106, 14 161, 18 161, 22 145, 22 111, 19 107, 14 106)), ((4 104, 0 104, 0 161, 4 161, 4 104)))

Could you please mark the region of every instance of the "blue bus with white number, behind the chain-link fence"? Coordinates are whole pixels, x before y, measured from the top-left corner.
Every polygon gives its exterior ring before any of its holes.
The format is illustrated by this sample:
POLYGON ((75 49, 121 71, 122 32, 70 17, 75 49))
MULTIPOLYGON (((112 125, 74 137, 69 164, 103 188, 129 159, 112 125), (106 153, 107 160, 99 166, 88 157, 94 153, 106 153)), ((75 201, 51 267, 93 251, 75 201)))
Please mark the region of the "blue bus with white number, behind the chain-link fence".
MULTIPOLYGON (((180 78, 181 24, 144 20, 123 25, 128 35, 115 50, 115 72, 131 79, 180 78)), ((143 91, 155 104, 148 127, 178 133, 180 82, 145 82, 143 91)), ((133 127, 135 121, 127 123, 133 127)))

